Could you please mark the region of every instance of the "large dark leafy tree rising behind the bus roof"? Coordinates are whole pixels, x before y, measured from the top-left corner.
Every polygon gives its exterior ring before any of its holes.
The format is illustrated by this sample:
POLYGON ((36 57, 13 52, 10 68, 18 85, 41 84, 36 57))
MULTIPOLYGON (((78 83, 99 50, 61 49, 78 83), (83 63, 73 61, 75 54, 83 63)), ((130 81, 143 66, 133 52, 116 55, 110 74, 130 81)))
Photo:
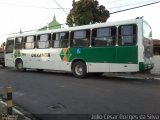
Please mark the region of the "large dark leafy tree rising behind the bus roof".
POLYGON ((106 22, 110 17, 105 6, 100 5, 97 0, 73 0, 72 9, 67 16, 67 25, 79 26, 99 22, 106 22))

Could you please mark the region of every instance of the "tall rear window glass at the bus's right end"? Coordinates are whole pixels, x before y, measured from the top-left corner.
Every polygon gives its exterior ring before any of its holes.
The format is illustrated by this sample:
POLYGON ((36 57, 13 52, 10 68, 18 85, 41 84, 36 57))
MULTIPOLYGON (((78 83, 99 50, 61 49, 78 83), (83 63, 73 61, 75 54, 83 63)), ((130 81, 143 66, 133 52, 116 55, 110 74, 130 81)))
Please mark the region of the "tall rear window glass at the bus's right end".
POLYGON ((152 30, 151 27, 143 22, 143 45, 144 45, 144 55, 147 58, 153 56, 153 41, 152 41, 152 30))

